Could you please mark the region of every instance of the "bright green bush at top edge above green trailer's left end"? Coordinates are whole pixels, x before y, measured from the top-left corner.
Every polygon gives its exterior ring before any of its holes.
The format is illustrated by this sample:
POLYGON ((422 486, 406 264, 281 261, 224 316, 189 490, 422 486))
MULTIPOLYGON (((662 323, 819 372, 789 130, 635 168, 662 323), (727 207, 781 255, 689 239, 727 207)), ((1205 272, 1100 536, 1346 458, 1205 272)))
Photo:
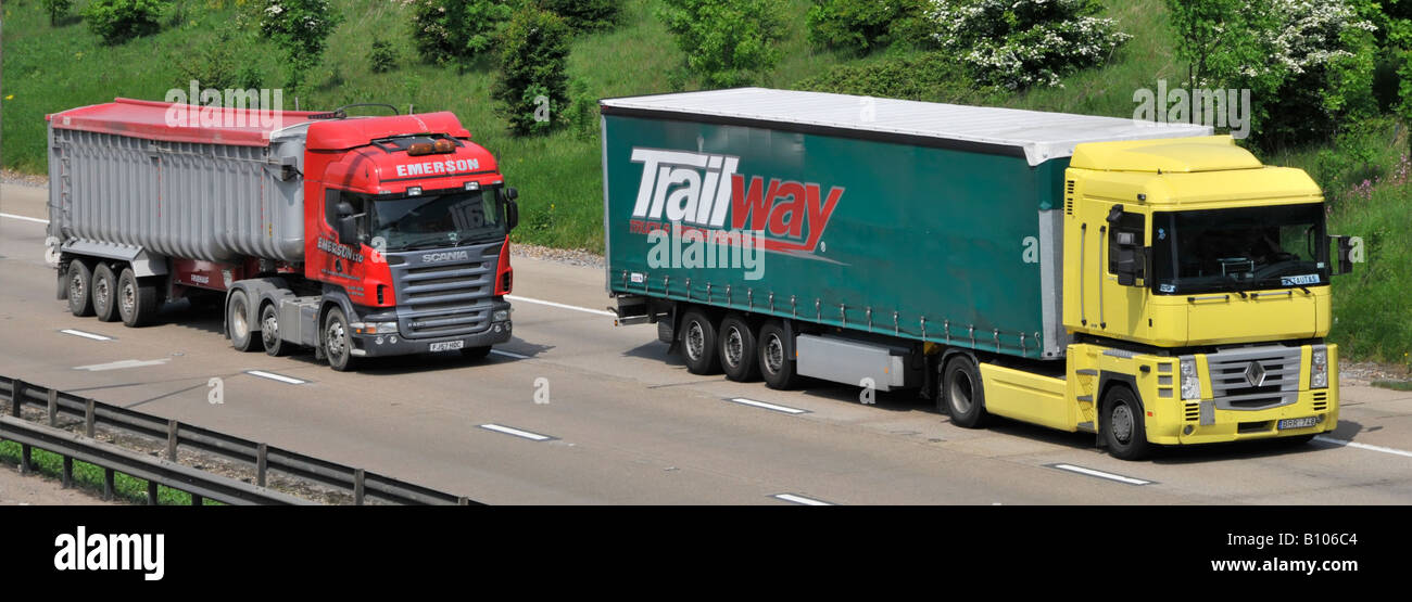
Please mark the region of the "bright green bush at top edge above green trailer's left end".
POLYGON ((782 13, 778 0, 664 0, 658 10, 705 87, 743 86, 774 68, 782 13))

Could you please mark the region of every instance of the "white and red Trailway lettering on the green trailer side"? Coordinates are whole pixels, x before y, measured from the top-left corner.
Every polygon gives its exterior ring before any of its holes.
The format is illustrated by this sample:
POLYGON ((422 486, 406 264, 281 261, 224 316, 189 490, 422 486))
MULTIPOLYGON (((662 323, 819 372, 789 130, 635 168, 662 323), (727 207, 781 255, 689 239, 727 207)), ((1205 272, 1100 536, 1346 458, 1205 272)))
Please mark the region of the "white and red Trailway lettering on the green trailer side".
POLYGON ((812 255, 843 197, 833 186, 827 196, 813 182, 736 173, 738 156, 634 148, 642 182, 630 231, 648 234, 685 224, 707 242, 744 244, 740 230, 764 231, 764 250, 812 255), (726 219, 730 217, 727 227, 726 219))

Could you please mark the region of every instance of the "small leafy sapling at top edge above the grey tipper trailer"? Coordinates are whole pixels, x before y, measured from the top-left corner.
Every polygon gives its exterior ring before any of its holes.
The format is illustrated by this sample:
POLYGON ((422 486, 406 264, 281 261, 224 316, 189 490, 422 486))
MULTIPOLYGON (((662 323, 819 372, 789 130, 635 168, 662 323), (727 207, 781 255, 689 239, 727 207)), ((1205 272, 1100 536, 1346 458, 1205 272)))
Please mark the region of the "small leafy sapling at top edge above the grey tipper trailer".
POLYGON ((329 0, 265 0, 260 31, 284 51, 285 87, 299 89, 342 20, 329 0))

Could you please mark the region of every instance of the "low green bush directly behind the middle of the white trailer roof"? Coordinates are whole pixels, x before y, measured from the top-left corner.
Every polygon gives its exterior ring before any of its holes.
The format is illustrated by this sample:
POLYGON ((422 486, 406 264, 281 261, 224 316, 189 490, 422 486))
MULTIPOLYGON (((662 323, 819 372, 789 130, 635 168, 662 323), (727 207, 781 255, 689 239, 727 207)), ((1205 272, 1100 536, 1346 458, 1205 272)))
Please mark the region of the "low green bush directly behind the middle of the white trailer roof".
POLYGON ((864 65, 837 65, 803 79, 795 89, 956 104, 994 104, 995 86, 977 86, 970 72, 940 52, 890 56, 864 65))

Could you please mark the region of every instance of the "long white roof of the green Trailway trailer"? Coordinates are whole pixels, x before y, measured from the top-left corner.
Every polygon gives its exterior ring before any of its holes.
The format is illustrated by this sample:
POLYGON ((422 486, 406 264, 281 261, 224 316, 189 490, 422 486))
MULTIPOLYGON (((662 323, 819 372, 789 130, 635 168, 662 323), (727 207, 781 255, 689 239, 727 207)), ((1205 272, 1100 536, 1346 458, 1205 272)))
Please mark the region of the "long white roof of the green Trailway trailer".
POLYGON ((1077 116, 1019 109, 973 107, 916 100, 873 99, 823 92, 736 87, 726 90, 606 99, 604 114, 644 114, 724 124, 794 125, 820 133, 932 138, 1007 147, 1029 165, 1073 155, 1083 142, 1211 135, 1207 125, 1158 124, 1120 117, 1077 116))

